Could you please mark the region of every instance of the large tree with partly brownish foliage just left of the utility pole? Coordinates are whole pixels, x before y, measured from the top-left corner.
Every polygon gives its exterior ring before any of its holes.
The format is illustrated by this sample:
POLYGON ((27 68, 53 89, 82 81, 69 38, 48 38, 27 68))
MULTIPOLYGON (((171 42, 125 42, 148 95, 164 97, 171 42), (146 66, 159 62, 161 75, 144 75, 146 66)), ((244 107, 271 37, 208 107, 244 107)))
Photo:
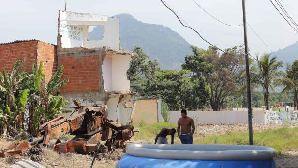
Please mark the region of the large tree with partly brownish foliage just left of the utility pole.
POLYGON ((205 76, 210 88, 209 104, 214 111, 221 110, 224 103, 233 100, 244 82, 241 77, 244 68, 244 50, 237 46, 228 48, 220 55, 210 46, 208 50, 191 47, 193 55, 185 57, 183 69, 192 71, 192 76, 205 76))

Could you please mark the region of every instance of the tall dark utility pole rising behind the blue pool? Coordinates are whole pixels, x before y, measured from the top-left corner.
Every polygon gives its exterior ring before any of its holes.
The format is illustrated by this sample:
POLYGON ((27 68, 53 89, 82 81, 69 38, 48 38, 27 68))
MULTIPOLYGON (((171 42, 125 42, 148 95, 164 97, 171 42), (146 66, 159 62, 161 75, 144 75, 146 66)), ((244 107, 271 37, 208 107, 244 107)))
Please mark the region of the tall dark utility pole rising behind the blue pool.
POLYGON ((249 75, 249 60, 248 60, 248 46, 246 33, 246 14, 245 14, 245 0, 242 0, 243 11, 243 28, 244 28, 244 46, 245 46, 245 69, 246 69, 246 90, 247 90, 247 114, 248 114, 248 133, 249 144, 253 145, 253 122, 252 122, 252 102, 251 102, 251 82, 249 75))

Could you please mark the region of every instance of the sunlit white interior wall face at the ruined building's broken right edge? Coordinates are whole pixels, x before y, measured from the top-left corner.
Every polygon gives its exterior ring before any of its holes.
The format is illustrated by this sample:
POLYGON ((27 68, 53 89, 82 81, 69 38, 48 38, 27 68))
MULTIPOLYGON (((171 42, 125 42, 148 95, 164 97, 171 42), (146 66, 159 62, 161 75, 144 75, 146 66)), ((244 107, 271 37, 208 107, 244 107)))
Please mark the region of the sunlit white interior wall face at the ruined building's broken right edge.
POLYGON ((124 55, 113 56, 112 61, 112 90, 129 91, 130 81, 127 79, 126 71, 129 68, 131 57, 124 55))

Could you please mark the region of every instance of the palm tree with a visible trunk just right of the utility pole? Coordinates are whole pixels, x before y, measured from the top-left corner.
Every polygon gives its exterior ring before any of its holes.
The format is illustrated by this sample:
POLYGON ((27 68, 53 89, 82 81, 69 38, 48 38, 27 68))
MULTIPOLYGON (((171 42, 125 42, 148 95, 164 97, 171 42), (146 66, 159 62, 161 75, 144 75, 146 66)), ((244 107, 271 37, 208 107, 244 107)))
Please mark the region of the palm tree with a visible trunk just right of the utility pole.
POLYGON ((275 92, 273 82, 280 76, 284 75, 283 71, 279 68, 283 67, 282 61, 277 61, 277 57, 274 56, 270 59, 270 54, 264 54, 260 59, 257 56, 257 73, 254 74, 254 84, 263 87, 264 102, 266 110, 269 110, 269 88, 275 92))

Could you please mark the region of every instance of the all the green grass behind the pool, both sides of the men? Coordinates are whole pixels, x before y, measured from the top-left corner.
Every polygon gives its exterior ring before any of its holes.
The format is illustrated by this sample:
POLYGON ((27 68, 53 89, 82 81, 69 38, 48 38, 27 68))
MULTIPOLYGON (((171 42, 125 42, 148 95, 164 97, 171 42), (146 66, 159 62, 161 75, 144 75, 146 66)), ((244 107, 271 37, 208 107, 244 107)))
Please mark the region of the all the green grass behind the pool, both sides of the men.
MULTIPOLYGON (((136 132, 134 139, 154 140, 162 128, 177 128, 174 123, 158 122, 150 125, 137 126, 140 132, 136 132)), ((276 150, 279 155, 287 154, 291 149, 298 149, 298 127, 279 128, 263 132, 253 133, 254 145, 268 146, 276 150)), ((180 144, 177 133, 175 144, 180 144)), ((249 145, 248 132, 227 132, 225 135, 217 135, 203 138, 194 137, 194 144, 227 144, 249 145)))

